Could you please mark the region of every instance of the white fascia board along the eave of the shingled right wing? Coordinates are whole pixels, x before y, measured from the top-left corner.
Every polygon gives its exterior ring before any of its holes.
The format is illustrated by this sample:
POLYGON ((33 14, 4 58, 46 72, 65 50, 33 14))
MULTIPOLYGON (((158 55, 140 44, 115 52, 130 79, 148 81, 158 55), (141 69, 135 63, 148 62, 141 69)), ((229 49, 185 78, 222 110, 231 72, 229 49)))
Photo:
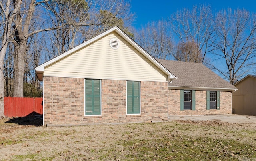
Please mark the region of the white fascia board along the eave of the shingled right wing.
POLYGON ((236 91, 236 88, 212 88, 212 87, 179 87, 179 86, 170 86, 168 85, 168 89, 197 89, 199 91, 236 91))

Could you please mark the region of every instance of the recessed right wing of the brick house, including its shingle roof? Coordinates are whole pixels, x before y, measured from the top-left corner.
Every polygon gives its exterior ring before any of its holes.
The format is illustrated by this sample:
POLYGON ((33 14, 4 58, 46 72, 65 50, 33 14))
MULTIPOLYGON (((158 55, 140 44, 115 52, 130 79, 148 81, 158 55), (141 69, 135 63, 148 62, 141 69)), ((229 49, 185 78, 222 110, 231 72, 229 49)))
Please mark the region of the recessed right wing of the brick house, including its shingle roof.
POLYGON ((157 59, 178 79, 168 83, 168 115, 232 113, 236 87, 201 63, 157 59))

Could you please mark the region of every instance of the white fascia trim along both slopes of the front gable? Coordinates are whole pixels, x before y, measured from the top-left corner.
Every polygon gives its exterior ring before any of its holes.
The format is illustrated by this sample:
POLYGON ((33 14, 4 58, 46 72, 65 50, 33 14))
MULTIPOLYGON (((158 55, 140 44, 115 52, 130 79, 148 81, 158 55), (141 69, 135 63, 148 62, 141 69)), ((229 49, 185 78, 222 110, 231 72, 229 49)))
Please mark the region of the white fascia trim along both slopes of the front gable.
POLYGON ((36 67, 35 70, 36 72, 44 72, 44 68, 66 56, 68 56, 69 54, 80 50, 81 48, 87 46, 88 44, 91 44, 92 42, 106 36, 107 34, 110 34, 111 32, 116 31, 118 34, 120 34, 120 36, 122 38, 124 38, 127 42, 129 42, 134 48, 136 48, 139 52, 141 52, 148 60, 150 60, 155 66, 157 66, 158 68, 160 68, 160 70, 162 70, 166 75, 168 75, 168 80, 171 79, 177 79, 176 76, 174 76, 170 71, 168 71, 166 68, 164 68, 164 66, 162 66, 162 64, 160 64, 158 61, 156 61, 152 56, 150 56, 143 48, 141 48, 136 42, 134 42, 129 36, 127 36, 120 28, 118 28, 117 26, 111 28, 110 30, 107 30, 106 32, 103 32, 102 34, 76 46, 73 49, 68 50, 67 52, 64 52, 63 54, 57 56, 56 58, 53 58, 52 60, 49 60, 48 62, 45 62, 44 64, 41 64, 40 66, 36 67))

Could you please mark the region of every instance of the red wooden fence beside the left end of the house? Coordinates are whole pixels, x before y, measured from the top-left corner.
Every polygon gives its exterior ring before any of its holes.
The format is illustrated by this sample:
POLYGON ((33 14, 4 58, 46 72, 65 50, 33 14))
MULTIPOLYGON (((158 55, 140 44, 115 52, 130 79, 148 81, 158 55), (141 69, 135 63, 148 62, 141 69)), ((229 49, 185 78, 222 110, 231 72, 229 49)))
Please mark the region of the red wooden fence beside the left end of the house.
POLYGON ((4 97, 6 117, 24 117, 32 112, 43 114, 43 98, 4 97))

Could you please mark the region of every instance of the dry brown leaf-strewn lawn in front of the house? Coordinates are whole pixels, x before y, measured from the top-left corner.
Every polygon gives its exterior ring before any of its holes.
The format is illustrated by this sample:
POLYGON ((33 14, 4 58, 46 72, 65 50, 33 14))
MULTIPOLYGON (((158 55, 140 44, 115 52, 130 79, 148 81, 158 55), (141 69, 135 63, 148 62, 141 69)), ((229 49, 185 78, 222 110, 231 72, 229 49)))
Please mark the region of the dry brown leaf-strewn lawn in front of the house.
POLYGON ((256 126, 164 121, 42 127, 0 120, 0 160, 256 160, 256 126))

